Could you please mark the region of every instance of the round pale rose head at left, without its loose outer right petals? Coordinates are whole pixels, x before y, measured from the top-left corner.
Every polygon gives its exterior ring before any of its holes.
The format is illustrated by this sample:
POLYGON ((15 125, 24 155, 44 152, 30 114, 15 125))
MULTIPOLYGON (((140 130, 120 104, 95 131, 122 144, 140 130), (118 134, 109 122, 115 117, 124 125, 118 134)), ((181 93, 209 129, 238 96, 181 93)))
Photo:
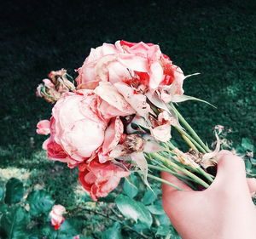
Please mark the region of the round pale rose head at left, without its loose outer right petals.
POLYGON ((49 158, 73 168, 93 156, 104 141, 108 121, 97 110, 91 90, 68 93, 52 109, 50 138, 44 142, 49 158))

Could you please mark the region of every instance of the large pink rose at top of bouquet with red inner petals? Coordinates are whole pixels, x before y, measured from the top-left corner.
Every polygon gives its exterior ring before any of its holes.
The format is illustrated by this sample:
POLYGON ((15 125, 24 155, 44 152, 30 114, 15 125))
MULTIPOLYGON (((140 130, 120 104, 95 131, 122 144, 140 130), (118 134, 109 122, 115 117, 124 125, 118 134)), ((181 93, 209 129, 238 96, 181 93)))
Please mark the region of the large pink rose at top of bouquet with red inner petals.
POLYGON ((177 66, 158 45, 117 41, 92 48, 78 71, 79 88, 95 88, 98 82, 123 82, 136 89, 155 90, 175 82, 177 66))

